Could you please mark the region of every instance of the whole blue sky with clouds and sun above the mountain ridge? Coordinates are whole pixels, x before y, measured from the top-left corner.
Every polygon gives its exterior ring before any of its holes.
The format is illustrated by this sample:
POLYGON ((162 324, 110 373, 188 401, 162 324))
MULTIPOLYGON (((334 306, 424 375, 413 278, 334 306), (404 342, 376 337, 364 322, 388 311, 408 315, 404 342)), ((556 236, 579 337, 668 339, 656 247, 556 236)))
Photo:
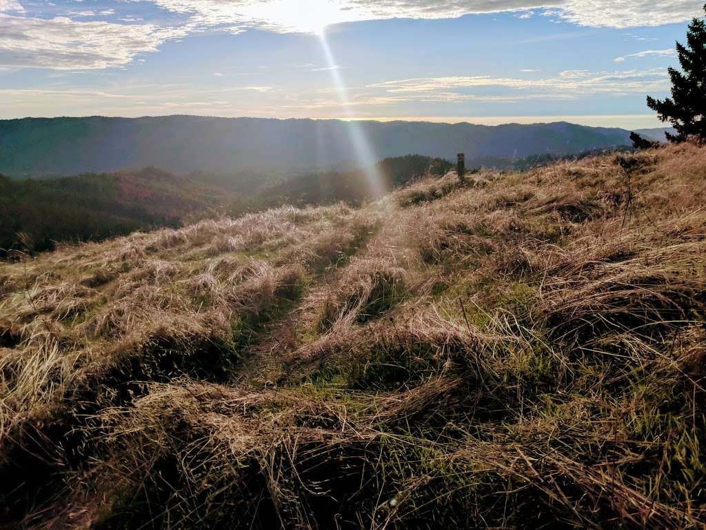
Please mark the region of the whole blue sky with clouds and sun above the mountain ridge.
POLYGON ((0 0, 0 118, 662 126, 703 0, 0 0))

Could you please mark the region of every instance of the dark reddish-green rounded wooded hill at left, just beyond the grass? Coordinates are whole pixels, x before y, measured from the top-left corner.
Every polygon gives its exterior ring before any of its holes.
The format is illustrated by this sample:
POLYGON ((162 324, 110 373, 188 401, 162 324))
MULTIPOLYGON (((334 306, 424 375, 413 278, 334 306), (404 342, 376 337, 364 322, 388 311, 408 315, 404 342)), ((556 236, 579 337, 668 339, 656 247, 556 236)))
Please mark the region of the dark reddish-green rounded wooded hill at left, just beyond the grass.
POLYGON ((181 225, 191 214, 215 213, 227 199, 223 189, 153 167, 52 180, 0 175, 0 259, 12 249, 181 225))

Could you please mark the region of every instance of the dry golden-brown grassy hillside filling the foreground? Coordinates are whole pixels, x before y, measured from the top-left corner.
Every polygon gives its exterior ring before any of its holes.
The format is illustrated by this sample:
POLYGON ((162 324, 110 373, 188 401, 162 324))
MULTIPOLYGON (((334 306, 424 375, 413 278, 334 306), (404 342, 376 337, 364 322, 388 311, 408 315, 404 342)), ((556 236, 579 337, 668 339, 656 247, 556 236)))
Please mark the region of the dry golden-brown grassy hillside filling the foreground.
POLYGON ((702 528, 706 149, 0 268, 6 528, 702 528))

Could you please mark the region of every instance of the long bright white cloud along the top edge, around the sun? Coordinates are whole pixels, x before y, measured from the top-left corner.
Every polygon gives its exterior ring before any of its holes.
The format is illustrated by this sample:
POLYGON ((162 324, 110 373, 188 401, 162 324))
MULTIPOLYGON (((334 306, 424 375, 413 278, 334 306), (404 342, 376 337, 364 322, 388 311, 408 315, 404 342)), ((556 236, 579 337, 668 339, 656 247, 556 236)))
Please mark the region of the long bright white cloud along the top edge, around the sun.
POLYGON ((286 33, 313 33, 323 25, 390 18, 458 18, 515 11, 530 18, 544 14, 576 25, 610 28, 683 22, 701 11, 700 0, 152 0, 192 23, 222 27, 261 27, 286 33))

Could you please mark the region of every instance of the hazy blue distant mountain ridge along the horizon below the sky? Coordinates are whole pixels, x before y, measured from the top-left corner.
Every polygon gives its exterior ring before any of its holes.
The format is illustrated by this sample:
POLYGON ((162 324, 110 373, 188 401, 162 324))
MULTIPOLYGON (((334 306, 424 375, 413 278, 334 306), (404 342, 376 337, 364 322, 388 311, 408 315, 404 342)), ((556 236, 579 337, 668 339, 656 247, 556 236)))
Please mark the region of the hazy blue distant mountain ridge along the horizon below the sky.
POLYGON ((415 153, 469 163, 571 155, 630 145, 629 131, 566 122, 485 126, 431 122, 167 116, 0 121, 0 173, 76 175, 145 166, 185 173, 359 166, 354 128, 373 161, 415 153))

